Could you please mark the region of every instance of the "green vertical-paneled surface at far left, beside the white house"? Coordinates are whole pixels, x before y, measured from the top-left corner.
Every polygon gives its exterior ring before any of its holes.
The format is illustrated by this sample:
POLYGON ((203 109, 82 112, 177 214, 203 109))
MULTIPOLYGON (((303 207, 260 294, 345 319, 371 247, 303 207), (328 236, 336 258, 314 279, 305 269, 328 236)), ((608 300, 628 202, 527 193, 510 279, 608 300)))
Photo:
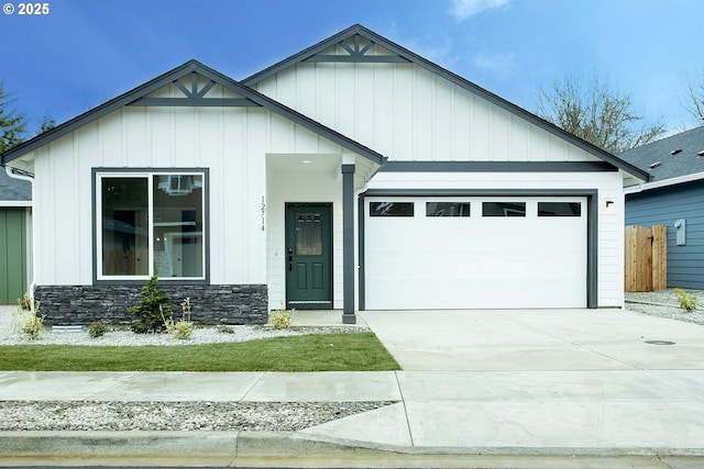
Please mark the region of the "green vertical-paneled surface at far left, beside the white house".
POLYGON ((26 209, 0 208, 0 304, 26 290, 26 209))

